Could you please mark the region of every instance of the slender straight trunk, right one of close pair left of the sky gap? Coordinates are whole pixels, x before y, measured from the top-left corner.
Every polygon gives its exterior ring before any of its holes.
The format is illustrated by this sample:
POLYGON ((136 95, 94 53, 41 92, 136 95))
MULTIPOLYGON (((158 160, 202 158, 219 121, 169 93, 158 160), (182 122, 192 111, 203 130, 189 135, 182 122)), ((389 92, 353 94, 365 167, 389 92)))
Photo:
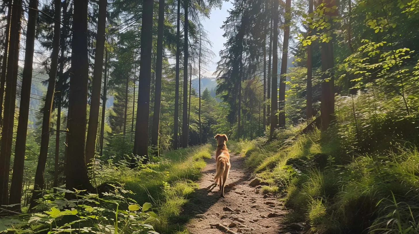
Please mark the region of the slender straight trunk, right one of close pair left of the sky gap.
POLYGON ((183 116, 182 116, 182 148, 188 147, 189 128, 188 128, 188 1, 184 1, 185 23, 184 23, 184 93, 183 93, 183 116))

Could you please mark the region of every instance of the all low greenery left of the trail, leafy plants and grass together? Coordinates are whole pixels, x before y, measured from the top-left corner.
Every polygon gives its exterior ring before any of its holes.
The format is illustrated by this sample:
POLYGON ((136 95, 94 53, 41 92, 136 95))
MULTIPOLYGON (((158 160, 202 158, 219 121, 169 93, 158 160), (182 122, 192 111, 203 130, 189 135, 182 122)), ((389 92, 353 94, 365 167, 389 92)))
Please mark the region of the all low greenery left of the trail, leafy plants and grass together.
POLYGON ((195 181, 206 165, 204 159, 211 158, 211 153, 211 145, 168 151, 137 169, 130 169, 123 160, 96 160, 93 182, 101 185, 98 193, 76 191, 77 197, 67 200, 65 193, 74 192, 62 188, 57 192, 44 191, 44 198, 36 207, 38 213, 0 219, 0 233, 183 231, 176 219, 188 196, 198 188, 195 181), (110 192, 99 191, 105 187, 110 192))

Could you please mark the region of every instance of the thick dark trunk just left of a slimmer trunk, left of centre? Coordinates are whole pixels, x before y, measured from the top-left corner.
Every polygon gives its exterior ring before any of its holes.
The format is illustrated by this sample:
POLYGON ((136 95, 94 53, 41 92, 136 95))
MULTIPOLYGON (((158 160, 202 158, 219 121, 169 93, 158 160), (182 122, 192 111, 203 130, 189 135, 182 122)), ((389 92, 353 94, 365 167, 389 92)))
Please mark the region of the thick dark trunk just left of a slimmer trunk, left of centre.
MULTIPOLYGON (((148 161, 148 118, 150 112, 151 48, 153 47, 153 0, 142 3, 140 83, 138 88, 137 120, 135 123, 134 155, 148 161)), ((131 167, 136 167, 132 158, 131 167)))

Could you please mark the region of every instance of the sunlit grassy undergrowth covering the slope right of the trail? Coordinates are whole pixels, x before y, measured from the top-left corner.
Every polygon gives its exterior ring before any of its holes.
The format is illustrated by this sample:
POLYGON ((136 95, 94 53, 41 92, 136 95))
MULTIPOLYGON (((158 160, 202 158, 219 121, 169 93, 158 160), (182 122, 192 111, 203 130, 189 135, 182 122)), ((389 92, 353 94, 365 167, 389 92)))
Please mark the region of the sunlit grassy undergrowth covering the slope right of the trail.
POLYGON ((263 191, 292 209, 289 221, 307 222, 311 233, 419 233, 419 115, 382 96, 338 98, 337 120, 323 134, 296 136, 304 123, 277 141, 232 148, 270 184, 263 191))

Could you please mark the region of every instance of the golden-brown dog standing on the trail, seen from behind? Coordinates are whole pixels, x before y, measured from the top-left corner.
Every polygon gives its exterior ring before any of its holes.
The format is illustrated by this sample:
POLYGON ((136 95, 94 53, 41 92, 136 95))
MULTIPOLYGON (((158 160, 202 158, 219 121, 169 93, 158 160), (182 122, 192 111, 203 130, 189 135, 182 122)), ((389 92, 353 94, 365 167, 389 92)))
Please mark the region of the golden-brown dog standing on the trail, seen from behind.
POLYGON ((218 179, 220 179, 220 191, 221 197, 224 197, 224 184, 228 177, 228 172, 230 171, 230 154, 228 153, 227 145, 225 142, 228 141, 225 134, 217 134, 215 137, 217 140, 217 151, 215 153, 215 162, 217 165, 217 174, 215 175, 215 183, 218 184, 218 179))

